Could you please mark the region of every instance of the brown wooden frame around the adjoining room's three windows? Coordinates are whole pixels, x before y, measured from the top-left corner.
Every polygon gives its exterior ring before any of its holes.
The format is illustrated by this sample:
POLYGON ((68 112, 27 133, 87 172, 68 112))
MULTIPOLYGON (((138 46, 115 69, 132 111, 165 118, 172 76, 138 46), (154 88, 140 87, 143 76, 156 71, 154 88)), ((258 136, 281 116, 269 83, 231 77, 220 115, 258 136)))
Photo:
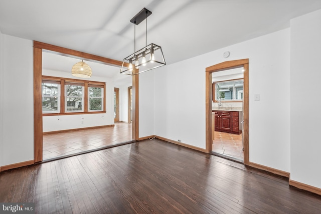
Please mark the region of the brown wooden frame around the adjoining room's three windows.
POLYGON ((89 80, 79 80, 79 79, 69 79, 61 77, 52 77, 52 76, 42 76, 42 82, 44 81, 60 81, 60 112, 55 113, 43 113, 43 116, 55 116, 55 115, 72 115, 72 114, 99 114, 106 113, 106 83, 89 81, 89 80), (67 99, 65 86, 68 83, 83 85, 83 103, 82 111, 66 111, 67 110, 67 99), (89 87, 88 86, 99 86, 102 88, 102 110, 90 110, 89 111, 89 87))

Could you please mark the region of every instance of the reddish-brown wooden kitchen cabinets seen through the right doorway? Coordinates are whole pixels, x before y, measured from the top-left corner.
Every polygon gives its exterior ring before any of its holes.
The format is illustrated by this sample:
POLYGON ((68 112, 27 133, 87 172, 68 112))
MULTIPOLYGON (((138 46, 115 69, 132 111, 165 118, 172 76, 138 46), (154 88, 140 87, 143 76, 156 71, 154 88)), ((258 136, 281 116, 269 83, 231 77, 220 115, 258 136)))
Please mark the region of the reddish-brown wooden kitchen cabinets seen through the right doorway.
POLYGON ((215 112, 215 131, 228 132, 233 134, 242 133, 242 111, 223 111, 215 112))

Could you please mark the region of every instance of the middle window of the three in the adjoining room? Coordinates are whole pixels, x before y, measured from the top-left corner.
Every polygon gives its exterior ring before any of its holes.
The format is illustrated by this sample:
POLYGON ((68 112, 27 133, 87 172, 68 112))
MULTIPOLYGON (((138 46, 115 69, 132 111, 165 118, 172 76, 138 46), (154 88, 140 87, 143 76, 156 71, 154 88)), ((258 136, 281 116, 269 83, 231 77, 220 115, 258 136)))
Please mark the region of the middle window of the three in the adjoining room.
POLYGON ((66 97, 66 112, 83 111, 83 90, 84 84, 66 82, 65 97, 66 97))

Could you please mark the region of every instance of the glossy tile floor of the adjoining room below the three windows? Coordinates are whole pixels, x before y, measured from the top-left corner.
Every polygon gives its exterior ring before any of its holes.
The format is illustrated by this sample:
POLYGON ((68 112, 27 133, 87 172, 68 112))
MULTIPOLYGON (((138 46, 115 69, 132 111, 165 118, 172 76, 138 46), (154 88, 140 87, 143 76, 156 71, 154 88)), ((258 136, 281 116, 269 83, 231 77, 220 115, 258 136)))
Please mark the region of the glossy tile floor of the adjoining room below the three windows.
POLYGON ((130 141, 131 124, 43 135, 43 160, 130 141))

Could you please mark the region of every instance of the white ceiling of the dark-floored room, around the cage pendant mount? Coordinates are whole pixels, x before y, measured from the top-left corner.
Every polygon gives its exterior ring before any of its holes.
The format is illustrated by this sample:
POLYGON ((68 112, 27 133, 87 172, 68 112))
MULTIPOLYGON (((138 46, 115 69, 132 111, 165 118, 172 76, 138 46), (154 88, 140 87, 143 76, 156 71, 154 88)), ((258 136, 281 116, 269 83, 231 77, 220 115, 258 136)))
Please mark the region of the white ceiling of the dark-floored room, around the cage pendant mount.
MULTIPOLYGON (((0 31, 122 61, 134 52, 134 25, 129 21, 143 8, 152 12, 147 45, 162 46, 171 64, 288 28, 290 19, 321 9, 321 1, 1 0, 0 31)), ((136 50, 144 46, 143 21, 136 26, 136 50)), ((49 61, 44 67, 53 66, 49 61)), ((109 69, 101 70, 106 75, 109 69)))

